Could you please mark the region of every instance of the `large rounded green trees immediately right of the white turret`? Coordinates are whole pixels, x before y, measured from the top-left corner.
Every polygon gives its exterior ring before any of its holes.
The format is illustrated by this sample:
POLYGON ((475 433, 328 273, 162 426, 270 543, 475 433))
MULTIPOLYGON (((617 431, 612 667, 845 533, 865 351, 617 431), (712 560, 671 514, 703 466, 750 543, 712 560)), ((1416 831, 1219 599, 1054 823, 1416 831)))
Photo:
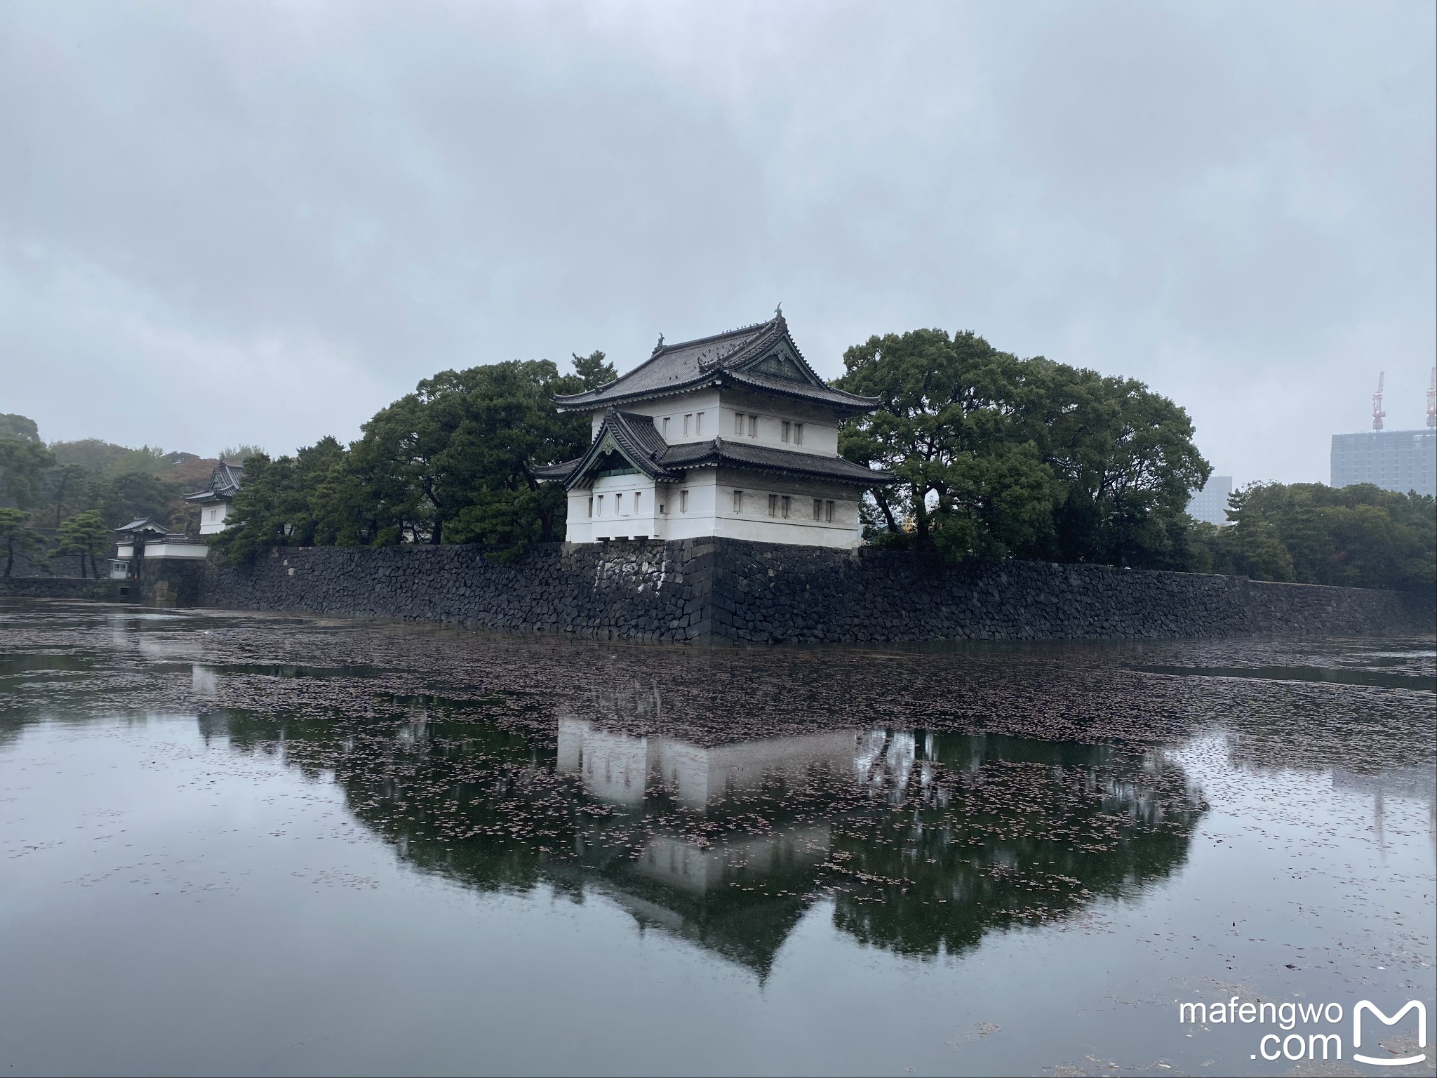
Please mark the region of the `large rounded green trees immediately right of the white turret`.
POLYGON ((898 476, 871 493, 872 542, 1187 568, 1187 502, 1211 467, 1187 413, 1142 382, 943 329, 872 336, 844 364, 836 384, 881 408, 846 423, 839 448, 898 476))

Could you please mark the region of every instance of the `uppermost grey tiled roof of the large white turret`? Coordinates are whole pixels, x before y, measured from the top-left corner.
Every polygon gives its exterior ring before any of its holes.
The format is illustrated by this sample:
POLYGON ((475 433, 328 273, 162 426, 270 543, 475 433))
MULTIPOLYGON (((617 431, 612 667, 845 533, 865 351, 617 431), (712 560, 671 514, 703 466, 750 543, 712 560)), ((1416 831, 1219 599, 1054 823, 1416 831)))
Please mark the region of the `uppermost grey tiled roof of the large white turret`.
POLYGON ((624 401, 664 397, 700 385, 723 385, 726 382, 800 397, 841 411, 871 411, 878 407, 877 397, 856 397, 825 385, 823 379, 803 359, 798 345, 793 344, 787 322, 782 315, 759 325, 730 329, 727 333, 675 345, 660 345, 648 359, 608 385, 555 397, 553 401, 565 411, 592 411, 624 401), (798 361, 802 379, 743 369, 749 364, 762 361, 780 342, 798 361))

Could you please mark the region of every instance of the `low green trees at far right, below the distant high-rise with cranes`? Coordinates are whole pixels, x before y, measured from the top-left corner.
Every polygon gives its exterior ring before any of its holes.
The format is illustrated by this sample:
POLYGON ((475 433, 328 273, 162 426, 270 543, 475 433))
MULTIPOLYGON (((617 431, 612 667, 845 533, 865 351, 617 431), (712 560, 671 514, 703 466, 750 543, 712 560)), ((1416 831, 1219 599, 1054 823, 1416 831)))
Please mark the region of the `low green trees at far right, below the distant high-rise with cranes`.
POLYGON ((1427 591, 1437 586, 1437 503, 1371 483, 1255 483, 1226 528, 1197 523, 1193 568, 1257 581, 1427 591))

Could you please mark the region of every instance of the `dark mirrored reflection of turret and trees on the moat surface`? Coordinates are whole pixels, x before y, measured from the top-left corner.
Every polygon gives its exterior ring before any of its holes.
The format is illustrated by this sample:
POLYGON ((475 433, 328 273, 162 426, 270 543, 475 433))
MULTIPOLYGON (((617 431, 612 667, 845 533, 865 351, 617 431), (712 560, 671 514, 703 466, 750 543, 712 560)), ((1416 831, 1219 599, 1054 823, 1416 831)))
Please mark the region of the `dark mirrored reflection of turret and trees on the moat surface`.
POLYGON ((1183 864, 1204 808, 1157 750, 902 729, 701 743, 606 727, 638 700, 664 706, 660 690, 595 699, 583 717, 559 716, 552 739, 434 707, 397 723, 201 723, 332 773, 422 871, 479 890, 547 884, 573 901, 601 893, 759 976, 819 901, 864 943, 937 956, 1131 894, 1183 864))

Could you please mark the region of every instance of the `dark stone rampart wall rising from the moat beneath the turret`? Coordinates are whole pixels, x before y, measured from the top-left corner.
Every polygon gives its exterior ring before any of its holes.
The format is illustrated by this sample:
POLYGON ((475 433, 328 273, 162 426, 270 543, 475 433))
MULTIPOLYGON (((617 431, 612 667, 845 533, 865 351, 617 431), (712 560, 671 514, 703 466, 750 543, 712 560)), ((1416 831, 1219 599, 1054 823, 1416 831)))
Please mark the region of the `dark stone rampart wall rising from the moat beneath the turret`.
MULTIPOLYGON (((550 545, 513 562, 474 546, 276 549, 203 572, 193 599, 203 605, 625 640, 1163 638, 1421 624, 1403 596, 1381 591, 1046 562, 948 566, 733 539, 550 545)), ((177 589, 175 602, 190 605, 190 592, 177 589)))

